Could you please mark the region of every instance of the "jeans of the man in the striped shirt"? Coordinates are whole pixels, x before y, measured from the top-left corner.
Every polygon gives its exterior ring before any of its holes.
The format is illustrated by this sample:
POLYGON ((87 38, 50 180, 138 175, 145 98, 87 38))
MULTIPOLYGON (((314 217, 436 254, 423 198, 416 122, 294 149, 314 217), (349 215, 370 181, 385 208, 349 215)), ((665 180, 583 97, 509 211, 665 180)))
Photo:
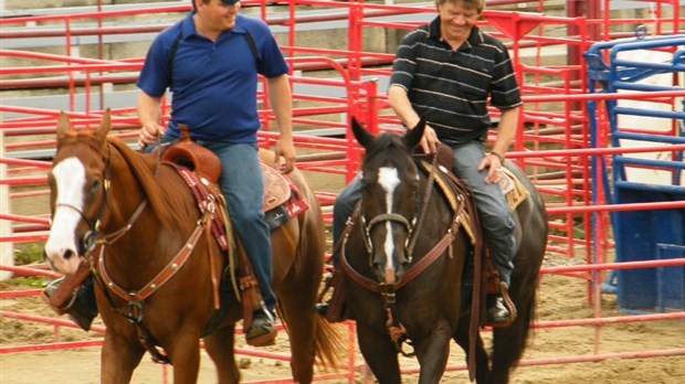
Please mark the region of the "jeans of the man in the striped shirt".
MULTIPOLYGON (((485 157, 484 145, 479 141, 471 141, 452 147, 452 151, 454 152, 452 169, 460 179, 464 179, 471 184, 478 207, 481 226, 487 237, 493 260, 502 280, 510 286, 512 271, 514 270, 512 260, 516 255, 515 224, 512 211, 499 185, 485 182, 486 169, 478 171, 478 162, 485 157)), ((345 230, 347 217, 352 214, 355 205, 360 199, 361 179, 358 174, 336 198, 333 207, 334 246, 345 230)), ((335 258, 333 262, 334 264, 338 263, 335 258)))

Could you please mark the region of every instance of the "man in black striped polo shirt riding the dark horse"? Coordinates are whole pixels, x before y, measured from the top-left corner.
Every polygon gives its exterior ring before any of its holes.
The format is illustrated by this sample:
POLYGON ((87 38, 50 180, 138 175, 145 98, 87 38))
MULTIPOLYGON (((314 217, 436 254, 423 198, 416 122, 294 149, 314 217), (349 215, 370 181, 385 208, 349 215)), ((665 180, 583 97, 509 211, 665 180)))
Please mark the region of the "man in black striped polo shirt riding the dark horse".
MULTIPOLYGON (((518 84, 506 47, 475 25, 485 0, 435 0, 435 6, 438 17, 408 33, 398 46, 388 100, 405 127, 415 127, 420 117, 426 120, 420 143, 425 152, 434 152, 439 142, 452 148, 453 170, 473 189, 493 260, 508 287, 516 241, 512 211, 497 182, 523 104, 518 84), (488 98, 500 119, 486 153, 484 141, 492 125, 488 98)), ((334 244, 360 198, 358 177, 336 199, 334 244)), ((514 320, 515 311, 509 312, 502 296, 488 296, 487 307, 489 324, 514 320)), ((316 309, 323 313, 327 303, 316 309)))

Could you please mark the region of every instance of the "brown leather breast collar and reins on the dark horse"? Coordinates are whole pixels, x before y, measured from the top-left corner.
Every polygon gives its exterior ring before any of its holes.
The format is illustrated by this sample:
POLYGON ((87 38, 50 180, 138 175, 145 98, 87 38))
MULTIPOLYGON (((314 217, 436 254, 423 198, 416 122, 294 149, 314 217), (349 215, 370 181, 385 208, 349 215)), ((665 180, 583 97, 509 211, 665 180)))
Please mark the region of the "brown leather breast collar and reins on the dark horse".
MULTIPOLYGON (((425 183, 425 193, 424 193, 424 199, 421 205, 422 206, 421 212, 418 214, 418 216, 413 217, 412 220, 413 225, 410 224, 410 221, 407 220, 407 217, 400 214, 397 214, 397 213, 386 213, 386 214, 375 216, 373 218, 369 221, 368 224, 362 225, 361 233, 365 239, 365 247, 367 249, 369 257, 372 254, 372 245, 369 239, 369 234, 371 232, 371 228, 376 224, 390 221, 390 222, 396 222, 396 223, 403 225, 409 232, 410 236, 407 242, 407 254, 408 254, 409 263, 412 263, 413 248, 414 248, 417 238, 421 232, 421 226, 426 215, 428 205, 431 199, 431 190, 433 188, 434 179, 435 179, 434 172, 436 172, 436 168, 435 168, 436 158, 438 157, 435 157, 433 160, 432 170, 425 183)), ((454 211, 454 215, 450 222, 450 226, 445 231, 444 235, 441 237, 440 241, 438 241, 438 243, 435 243, 435 245, 423 257, 421 257, 417 263, 412 264, 409 267, 409 269, 402 275, 402 277, 394 284, 379 282, 378 280, 370 279, 361 275, 349 264, 349 260, 345 253, 347 241, 349 239, 349 234, 351 232, 351 228, 355 226, 355 223, 357 222, 357 220, 360 223, 365 224, 363 215, 361 214, 361 202, 357 203, 357 206, 355 207, 352 215, 347 220, 346 227, 342 232, 341 239, 337 246, 340 252, 340 260, 342 265, 342 270, 357 285, 361 286, 362 288, 367 290, 381 295, 383 299, 383 308, 386 309, 386 312, 388 313, 388 320, 386 322, 386 326, 388 327, 388 333, 390 334, 390 338, 393 341, 398 352, 402 353, 402 355, 408 356, 408 358, 415 355, 415 353, 404 352, 402 348, 402 344, 404 342, 407 342, 410 345, 411 345, 411 342, 408 341, 407 330, 404 329, 404 326, 399 321, 396 292, 400 290, 402 287, 404 287, 405 285, 408 285, 409 282, 411 282, 419 275, 421 275, 428 267, 430 267, 435 260, 438 260, 440 256, 444 254, 445 249, 450 248, 450 252, 449 252, 450 257, 451 258, 453 257, 451 246, 452 246, 452 243, 454 242, 454 238, 456 237, 456 234, 459 233, 459 230, 461 226, 461 216, 466 207, 466 202, 462 194, 457 196, 457 200, 459 200, 459 204, 454 211)))

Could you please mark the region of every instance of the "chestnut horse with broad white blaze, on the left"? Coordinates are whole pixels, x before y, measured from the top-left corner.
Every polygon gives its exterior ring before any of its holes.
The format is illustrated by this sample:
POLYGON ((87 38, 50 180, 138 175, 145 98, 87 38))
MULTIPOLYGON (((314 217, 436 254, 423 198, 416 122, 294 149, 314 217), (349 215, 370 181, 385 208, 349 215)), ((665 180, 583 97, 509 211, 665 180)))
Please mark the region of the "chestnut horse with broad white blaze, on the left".
MULTIPOLYGON (((214 317, 212 279, 222 280, 224 254, 208 232, 198 235, 205 217, 177 171, 108 137, 109 128, 108 111, 96 131, 74 131, 66 115, 60 116, 45 247, 50 264, 64 274, 76 270, 88 243, 94 241, 99 249, 98 260, 92 260, 99 263, 96 280, 112 282, 107 288, 95 284, 106 326, 102 382, 130 381, 146 352, 143 334, 166 353, 175 383, 197 381, 201 338, 217 365, 218 382, 238 383, 234 327, 243 312, 233 292, 221 297, 225 317, 214 317), (171 277, 161 286, 150 284, 160 273, 171 277), (130 300, 119 298, 117 289, 130 292, 130 300), (137 300, 144 292, 149 295, 137 300)), ((312 311, 325 246, 320 209, 303 175, 295 170, 289 178, 309 209, 272 232, 273 287, 287 324, 293 377, 309 383, 315 358, 334 363, 337 339, 312 311)))

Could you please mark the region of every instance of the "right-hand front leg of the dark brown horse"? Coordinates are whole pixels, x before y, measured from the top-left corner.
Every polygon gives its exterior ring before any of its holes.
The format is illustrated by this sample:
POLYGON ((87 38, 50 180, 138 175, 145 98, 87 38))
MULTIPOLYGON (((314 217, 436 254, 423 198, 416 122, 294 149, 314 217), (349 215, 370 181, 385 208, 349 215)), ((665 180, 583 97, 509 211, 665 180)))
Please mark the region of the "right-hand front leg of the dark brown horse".
POLYGON ((452 331, 445 323, 438 323, 425 338, 414 340, 414 351, 421 372, 419 383, 439 383, 450 356, 452 331))

